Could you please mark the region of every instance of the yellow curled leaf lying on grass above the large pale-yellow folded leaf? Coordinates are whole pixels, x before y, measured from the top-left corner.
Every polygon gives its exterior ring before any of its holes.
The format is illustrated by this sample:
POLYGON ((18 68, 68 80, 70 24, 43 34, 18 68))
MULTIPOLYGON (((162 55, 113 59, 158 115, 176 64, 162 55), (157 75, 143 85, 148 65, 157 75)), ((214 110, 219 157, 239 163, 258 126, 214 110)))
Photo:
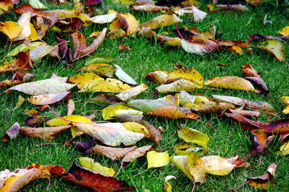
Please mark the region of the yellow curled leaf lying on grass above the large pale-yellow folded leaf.
POLYGON ((196 143, 202 147, 208 148, 209 137, 208 135, 201 133, 195 129, 189 127, 181 127, 178 131, 178 136, 184 139, 186 142, 196 143))

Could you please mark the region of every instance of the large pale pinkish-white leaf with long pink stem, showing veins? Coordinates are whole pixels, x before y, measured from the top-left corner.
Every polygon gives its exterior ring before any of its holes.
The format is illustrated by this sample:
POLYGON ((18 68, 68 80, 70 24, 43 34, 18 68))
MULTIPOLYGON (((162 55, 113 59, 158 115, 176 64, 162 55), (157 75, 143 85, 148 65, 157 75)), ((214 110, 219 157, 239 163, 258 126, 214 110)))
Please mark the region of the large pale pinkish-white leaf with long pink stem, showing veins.
POLYGON ((135 133, 125 129, 120 123, 75 123, 77 128, 110 146, 132 145, 144 137, 142 133, 135 133))

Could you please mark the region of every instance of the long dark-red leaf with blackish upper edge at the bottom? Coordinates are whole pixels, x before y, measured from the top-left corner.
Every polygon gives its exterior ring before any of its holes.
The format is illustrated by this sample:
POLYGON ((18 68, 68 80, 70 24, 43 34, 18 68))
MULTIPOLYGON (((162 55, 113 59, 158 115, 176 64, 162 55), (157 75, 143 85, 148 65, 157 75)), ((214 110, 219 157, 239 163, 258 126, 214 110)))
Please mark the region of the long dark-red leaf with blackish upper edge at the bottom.
POLYGON ((125 181, 110 176, 104 176, 76 165, 75 163, 73 163, 69 170, 64 172, 61 177, 67 181, 89 187, 99 192, 135 190, 134 187, 130 187, 125 181))

